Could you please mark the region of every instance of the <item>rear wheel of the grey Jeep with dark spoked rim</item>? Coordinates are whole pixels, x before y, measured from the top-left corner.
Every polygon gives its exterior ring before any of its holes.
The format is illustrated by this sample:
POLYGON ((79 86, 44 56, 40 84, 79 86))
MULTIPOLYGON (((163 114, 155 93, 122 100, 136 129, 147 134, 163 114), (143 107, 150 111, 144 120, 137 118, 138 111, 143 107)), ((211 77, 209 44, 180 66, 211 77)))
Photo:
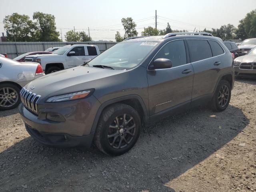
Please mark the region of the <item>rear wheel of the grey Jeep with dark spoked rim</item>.
POLYGON ((212 98, 212 110, 220 112, 228 107, 231 98, 231 87, 227 80, 220 80, 212 98))

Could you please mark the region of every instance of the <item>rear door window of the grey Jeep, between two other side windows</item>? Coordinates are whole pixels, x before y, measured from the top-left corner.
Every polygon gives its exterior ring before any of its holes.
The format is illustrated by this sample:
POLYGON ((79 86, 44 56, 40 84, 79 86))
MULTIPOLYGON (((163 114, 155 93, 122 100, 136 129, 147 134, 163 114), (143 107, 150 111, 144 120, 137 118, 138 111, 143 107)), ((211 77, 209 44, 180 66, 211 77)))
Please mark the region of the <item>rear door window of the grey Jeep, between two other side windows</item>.
POLYGON ((212 50, 207 40, 188 39, 187 42, 191 56, 191 62, 196 62, 212 57, 212 50))

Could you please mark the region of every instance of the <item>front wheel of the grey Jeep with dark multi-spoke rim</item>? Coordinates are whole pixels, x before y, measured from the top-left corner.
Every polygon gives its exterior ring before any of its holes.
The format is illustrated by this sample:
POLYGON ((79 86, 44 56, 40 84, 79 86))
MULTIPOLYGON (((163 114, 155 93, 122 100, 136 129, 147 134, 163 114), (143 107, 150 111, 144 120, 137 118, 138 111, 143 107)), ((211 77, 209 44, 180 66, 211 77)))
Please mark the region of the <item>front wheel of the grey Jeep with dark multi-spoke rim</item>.
POLYGON ((105 154, 113 156, 124 154, 138 140, 140 128, 140 116, 134 108, 121 103, 113 104, 104 109, 100 116, 94 144, 105 154))

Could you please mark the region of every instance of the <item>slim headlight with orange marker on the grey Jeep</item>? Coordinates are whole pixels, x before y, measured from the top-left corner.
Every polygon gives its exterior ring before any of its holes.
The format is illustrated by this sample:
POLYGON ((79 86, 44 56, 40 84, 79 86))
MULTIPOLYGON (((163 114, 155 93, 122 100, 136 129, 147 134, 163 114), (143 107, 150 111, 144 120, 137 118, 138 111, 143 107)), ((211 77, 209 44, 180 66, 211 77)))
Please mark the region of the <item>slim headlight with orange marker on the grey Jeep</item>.
POLYGON ((79 91, 74 93, 68 93, 64 95, 53 96, 48 98, 46 102, 62 102, 62 101, 82 99, 82 98, 86 98, 90 93, 92 93, 92 90, 85 90, 85 91, 79 91))

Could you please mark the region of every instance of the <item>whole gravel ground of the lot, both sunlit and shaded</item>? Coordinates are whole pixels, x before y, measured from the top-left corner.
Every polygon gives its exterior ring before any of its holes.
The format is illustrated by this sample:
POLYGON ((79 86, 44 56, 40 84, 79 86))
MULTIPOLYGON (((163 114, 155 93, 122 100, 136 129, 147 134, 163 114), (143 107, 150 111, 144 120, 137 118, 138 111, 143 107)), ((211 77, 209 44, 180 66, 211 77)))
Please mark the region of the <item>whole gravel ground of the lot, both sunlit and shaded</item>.
POLYGON ((200 108, 144 127, 130 152, 58 149, 0 112, 0 191, 256 191, 256 80, 238 80, 221 113, 200 108))

